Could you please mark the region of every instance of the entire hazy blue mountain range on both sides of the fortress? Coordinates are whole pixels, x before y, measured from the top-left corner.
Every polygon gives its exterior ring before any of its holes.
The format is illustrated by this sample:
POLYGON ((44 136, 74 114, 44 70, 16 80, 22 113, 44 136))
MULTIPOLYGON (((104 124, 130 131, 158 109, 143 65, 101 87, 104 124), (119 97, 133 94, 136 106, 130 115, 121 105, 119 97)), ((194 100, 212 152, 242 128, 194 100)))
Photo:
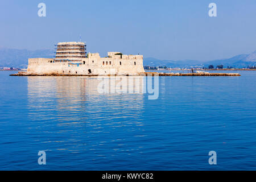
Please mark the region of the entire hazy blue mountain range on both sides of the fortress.
MULTIPOLYGON (((0 67, 15 67, 26 68, 28 58, 32 57, 54 57, 55 53, 52 49, 42 49, 36 51, 29 51, 27 49, 9 49, 0 48, 0 67)), ((208 67, 213 65, 224 65, 226 67, 247 68, 247 66, 256 66, 256 51, 249 55, 238 55, 229 59, 220 59, 212 61, 198 61, 198 60, 159 60, 154 57, 144 58, 143 64, 145 66, 166 66, 170 68, 189 68, 189 67, 208 67)))

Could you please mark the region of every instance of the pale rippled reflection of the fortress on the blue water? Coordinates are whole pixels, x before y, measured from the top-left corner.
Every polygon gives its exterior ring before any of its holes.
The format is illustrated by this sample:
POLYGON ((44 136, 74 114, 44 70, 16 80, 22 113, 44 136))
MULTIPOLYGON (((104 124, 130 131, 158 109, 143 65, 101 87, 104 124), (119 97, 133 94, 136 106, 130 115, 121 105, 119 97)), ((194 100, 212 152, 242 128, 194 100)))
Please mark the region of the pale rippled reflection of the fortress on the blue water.
MULTIPOLYGON (((133 115, 137 113, 139 116, 146 96, 143 92, 138 92, 138 88, 139 90, 143 89, 145 77, 123 76, 118 78, 119 80, 112 77, 27 77, 28 106, 31 110, 48 110, 49 112, 44 112, 47 114, 53 112, 65 115, 69 112, 77 112, 77 115, 86 117, 86 113, 91 115, 114 109, 117 110, 117 113, 133 112, 133 115), (126 93, 112 92, 113 81, 114 86, 118 86, 119 82, 125 80, 129 82, 129 79, 133 79, 133 86, 121 84, 120 87, 122 90, 127 90, 126 93), (109 93, 99 92, 98 88, 102 82, 104 82, 104 86, 109 84, 109 93), (131 92, 131 90, 134 91, 131 92), (53 102, 51 105, 55 107, 48 108, 47 102, 53 102)), ((63 120, 71 119, 61 118, 63 120)), ((76 120, 76 118, 72 119, 76 120)))

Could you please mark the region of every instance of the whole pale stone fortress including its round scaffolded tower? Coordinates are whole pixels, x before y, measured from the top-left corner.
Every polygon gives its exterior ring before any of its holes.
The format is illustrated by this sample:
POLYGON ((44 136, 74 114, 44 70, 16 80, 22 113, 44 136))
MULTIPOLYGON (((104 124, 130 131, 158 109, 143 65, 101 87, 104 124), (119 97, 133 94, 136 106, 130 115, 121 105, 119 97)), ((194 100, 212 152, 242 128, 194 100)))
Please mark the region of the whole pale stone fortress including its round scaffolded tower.
POLYGON ((144 73, 142 55, 108 52, 108 57, 88 53, 83 42, 60 42, 53 59, 28 59, 26 75, 139 75, 144 73))

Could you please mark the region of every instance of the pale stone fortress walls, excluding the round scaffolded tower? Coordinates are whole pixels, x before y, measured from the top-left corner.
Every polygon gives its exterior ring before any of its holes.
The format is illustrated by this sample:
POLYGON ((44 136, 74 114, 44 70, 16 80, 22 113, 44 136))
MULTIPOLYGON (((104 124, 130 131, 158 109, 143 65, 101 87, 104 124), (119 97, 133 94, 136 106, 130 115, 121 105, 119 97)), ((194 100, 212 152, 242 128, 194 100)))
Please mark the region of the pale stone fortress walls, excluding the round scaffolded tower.
POLYGON ((88 58, 81 58, 81 61, 77 62, 54 62, 53 59, 34 58, 28 59, 27 72, 37 75, 137 75, 144 72, 143 56, 122 55, 122 59, 113 59, 100 57, 98 53, 88 53, 88 58), (72 63, 80 64, 77 66, 72 63))

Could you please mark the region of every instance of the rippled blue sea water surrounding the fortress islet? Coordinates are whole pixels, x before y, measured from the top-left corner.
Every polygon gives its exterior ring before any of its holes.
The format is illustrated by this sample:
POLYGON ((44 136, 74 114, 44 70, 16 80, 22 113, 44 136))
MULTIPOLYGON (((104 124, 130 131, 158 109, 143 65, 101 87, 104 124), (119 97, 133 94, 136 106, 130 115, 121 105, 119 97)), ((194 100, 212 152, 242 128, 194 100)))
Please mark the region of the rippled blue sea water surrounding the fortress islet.
POLYGON ((254 71, 159 77, 156 100, 99 93, 96 77, 11 73, 0 72, 2 170, 256 169, 254 71))

